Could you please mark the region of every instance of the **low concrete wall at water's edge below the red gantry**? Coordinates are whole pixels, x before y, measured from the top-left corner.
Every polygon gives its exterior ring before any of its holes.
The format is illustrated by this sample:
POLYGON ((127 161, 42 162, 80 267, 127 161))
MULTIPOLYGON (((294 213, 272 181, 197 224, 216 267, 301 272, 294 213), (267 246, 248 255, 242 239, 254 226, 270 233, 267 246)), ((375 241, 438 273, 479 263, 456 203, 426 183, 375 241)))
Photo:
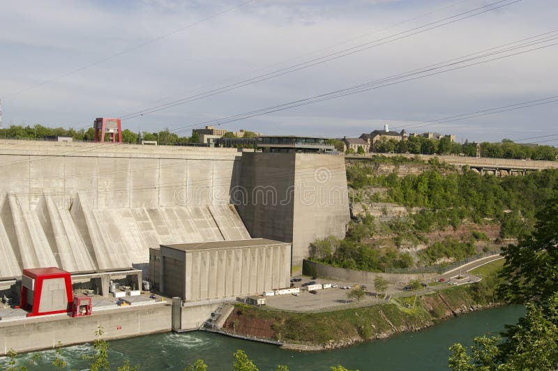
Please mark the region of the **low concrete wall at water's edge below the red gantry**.
POLYGON ((170 305, 161 304, 105 310, 91 317, 60 315, 0 321, 0 355, 6 354, 9 349, 22 352, 52 348, 57 342, 62 345, 91 342, 96 338, 98 326, 103 327, 105 340, 170 331, 170 312, 170 305))

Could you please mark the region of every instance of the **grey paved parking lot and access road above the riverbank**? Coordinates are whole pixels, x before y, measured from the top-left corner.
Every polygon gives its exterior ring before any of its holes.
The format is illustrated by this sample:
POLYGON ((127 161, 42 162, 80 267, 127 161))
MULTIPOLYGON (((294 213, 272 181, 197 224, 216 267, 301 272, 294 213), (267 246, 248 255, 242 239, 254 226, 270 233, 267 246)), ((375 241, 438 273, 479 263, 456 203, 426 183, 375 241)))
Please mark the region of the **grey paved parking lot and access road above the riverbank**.
MULTIPOLYGON (((469 283, 478 282, 481 277, 477 275, 472 275, 468 273, 474 268, 494 262, 497 259, 502 259, 500 255, 492 255, 490 257, 483 257, 477 259, 474 262, 470 262, 454 268, 451 271, 443 273, 442 275, 436 276, 433 279, 425 281, 424 283, 432 282, 432 280, 439 280, 441 278, 444 281, 451 281, 451 284, 441 283, 435 286, 427 286, 424 289, 418 291, 404 292, 402 291, 402 285, 389 285, 387 290, 387 296, 414 296, 416 294, 425 294, 427 292, 435 292, 441 289, 445 289, 448 285, 467 285, 469 283), (458 276, 462 275, 462 279, 458 280, 458 276), (469 282, 470 280, 470 282, 469 282)), ((296 285, 299 287, 301 284, 310 281, 310 278, 305 276, 299 276, 302 282, 297 282, 296 285)), ((353 301, 347 298, 347 293, 349 290, 338 288, 317 290, 317 294, 310 294, 304 287, 301 287, 300 296, 294 295, 278 295, 278 296, 268 296, 266 297, 266 305, 270 308, 276 308, 278 310, 287 310, 289 312, 329 312, 331 310, 342 310, 343 308, 355 308, 361 306, 368 306, 377 303, 384 302, 384 298, 379 298, 374 294, 374 283, 373 282, 340 282, 335 280, 315 280, 317 283, 335 283, 339 286, 352 286, 355 283, 365 284, 368 292, 366 296, 360 301, 353 301)))

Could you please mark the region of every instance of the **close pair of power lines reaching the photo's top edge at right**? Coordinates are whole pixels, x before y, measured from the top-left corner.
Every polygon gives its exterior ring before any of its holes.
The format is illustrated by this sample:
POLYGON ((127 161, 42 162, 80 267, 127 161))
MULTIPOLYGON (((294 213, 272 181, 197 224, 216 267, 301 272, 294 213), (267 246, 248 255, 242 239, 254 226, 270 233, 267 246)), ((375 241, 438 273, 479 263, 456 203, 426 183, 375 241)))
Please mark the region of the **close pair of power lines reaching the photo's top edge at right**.
POLYGON ((378 47, 380 45, 393 43, 393 42, 395 42, 397 40, 401 40, 403 38, 409 38, 409 37, 414 36, 418 33, 423 33, 425 31, 430 31, 432 29, 437 29, 437 28, 445 26, 447 24, 452 24, 452 23, 458 22, 460 20, 466 20, 468 18, 475 17, 476 15, 481 15, 483 13, 487 13, 487 12, 490 12, 492 10, 497 10, 499 8, 503 8, 504 6, 509 6, 513 3, 518 3, 519 1, 521 1, 521 0, 513 0, 513 1, 511 1, 511 0, 499 0, 499 1, 495 1, 495 2, 490 3, 488 5, 485 5, 485 6, 481 6, 481 7, 478 7, 478 8, 474 8, 472 10, 467 10, 465 12, 458 13, 456 15, 452 15, 451 17, 444 17, 441 20, 436 20, 434 22, 429 22, 427 24, 423 24, 421 26, 414 27, 412 29, 407 29, 405 31, 394 33, 393 35, 386 36, 384 38, 379 38, 377 40, 370 41, 368 43, 363 43, 361 45, 357 45, 357 46, 354 46, 354 47, 349 47, 349 48, 347 48, 345 50, 341 50, 339 52, 334 52, 334 53, 331 53, 331 54, 327 54, 325 56, 320 56, 320 57, 315 58, 315 59, 310 59, 309 61, 305 61, 305 62, 302 62, 302 63, 296 63, 293 66, 289 66, 289 67, 286 67, 286 68, 280 68, 280 69, 274 70, 270 73, 264 73, 262 75, 257 75, 255 77, 251 77, 249 79, 244 79, 240 82, 236 82, 234 84, 229 84, 229 85, 226 85, 226 86, 222 86, 218 89, 205 91, 203 93, 195 94, 195 95, 192 95, 192 96, 187 96, 187 97, 181 98, 179 100, 173 100, 172 102, 164 103, 163 105, 156 105, 156 106, 153 106, 153 107, 142 109, 140 111, 131 112, 129 114, 124 114, 123 116, 121 116, 121 119, 133 119, 135 117, 144 116, 146 114, 152 114, 154 112, 159 112, 159 111, 163 111, 165 109, 169 109, 169 108, 176 107, 176 106, 179 106, 179 105, 184 105, 186 103, 190 103, 190 102, 193 102, 195 100, 209 98, 211 96, 216 96, 218 94, 225 93, 227 91, 232 91, 232 90, 235 90, 235 89, 239 89, 241 87, 252 85, 252 84, 255 84, 257 82, 263 82, 263 81, 266 81, 266 80, 269 80, 269 79, 273 79, 275 77, 279 77, 279 76, 282 76, 282 75, 287 75, 289 73, 294 73, 295 71, 303 70, 303 69, 306 69, 306 68, 309 68, 309 67, 312 67, 312 66, 317 66, 319 64, 326 63, 327 61, 332 61, 334 59, 340 59, 344 56, 356 54, 356 53, 359 53, 359 52, 363 52, 365 50, 370 50, 373 47, 378 47))

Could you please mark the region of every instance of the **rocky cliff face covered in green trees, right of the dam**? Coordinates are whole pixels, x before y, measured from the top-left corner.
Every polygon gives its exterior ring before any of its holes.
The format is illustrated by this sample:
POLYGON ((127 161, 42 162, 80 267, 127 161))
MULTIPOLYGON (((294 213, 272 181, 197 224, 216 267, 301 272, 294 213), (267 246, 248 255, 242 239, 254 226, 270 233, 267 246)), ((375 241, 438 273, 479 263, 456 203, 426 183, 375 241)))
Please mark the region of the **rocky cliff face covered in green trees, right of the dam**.
POLYGON ((385 271, 444 265, 481 252, 499 251, 504 239, 520 238, 531 232, 536 209, 558 184, 555 169, 500 179, 481 176, 467 167, 462 172, 448 169, 435 159, 428 164, 412 158, 373 161, 414 164, 423 167, 423 172, 382 175, 370 164, 349 164, 347 180, 352 203, 364 207, 374 203, 398 204, 405 206, 407 214, 354 215, 345 239, 329 237, 310 245, 311 259, 342 268, 385 271), (463 225, 470 226, 469 230, 435 241, 429 239, 429 234, 457 232, 463 225), (483 226, 499 232, 490 239, 481 232, 483 226), (409 254, 409 249, 417 246, 421 246, 420 251, 409 254))

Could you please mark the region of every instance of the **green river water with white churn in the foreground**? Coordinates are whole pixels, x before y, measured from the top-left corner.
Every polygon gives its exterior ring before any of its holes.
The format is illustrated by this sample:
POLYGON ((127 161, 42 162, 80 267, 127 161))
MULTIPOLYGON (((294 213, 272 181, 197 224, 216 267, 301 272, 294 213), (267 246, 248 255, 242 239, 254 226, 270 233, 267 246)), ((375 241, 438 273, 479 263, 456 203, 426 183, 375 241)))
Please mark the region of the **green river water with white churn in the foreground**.
MULTIPOLYGON (((418 333, 403 333, 346 349, 311 353, 285 351, 273 345, 202 331, 163 333, 110 342, 110 360, 112 365, 121 365, 124 358, 129 358, 132 363, 139 363, 141 370, 183 370, 202 358, 209 370, 231 370, 232 353, 243 349, 262 371, 275 370, 278 364, 289 366, 289 370, 329 370, 329 366, 338 364, 361 371, 446 370, 448 347, 454 342, 471 345, 475 336, 495 335, 504 330, 504 324, 514 324, 524 314, 525 308, 519 305, 495 308, 462 315, 418 333)), ((90 345, 62 349, 62 356, 69 363, 66 370, 86 370, 87 364, 80 356, 89 351, 90 345)), ((52 370, 54 351, 39 354, 42 359, 29 370, 52 370)), ((23 364, 30 358, 29 354, 24 354, 18 359, 23 364)), ((6 365, 6 358, 0 359, 0 365, 6 365)))

